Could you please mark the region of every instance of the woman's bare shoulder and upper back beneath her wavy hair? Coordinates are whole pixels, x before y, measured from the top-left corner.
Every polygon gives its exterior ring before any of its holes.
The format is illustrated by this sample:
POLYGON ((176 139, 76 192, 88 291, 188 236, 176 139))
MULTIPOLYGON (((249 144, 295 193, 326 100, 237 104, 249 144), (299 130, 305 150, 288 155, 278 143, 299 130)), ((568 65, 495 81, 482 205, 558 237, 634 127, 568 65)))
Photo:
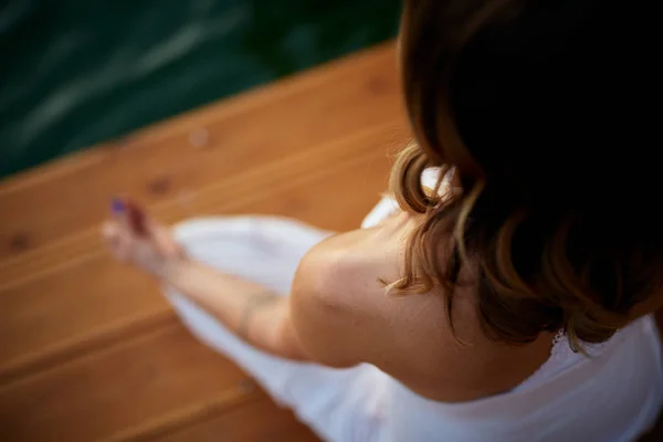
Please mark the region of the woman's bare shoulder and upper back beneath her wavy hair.
MULTIPOLYGON (((399 219, 400 218, 400 219, 399 219)), ((302 261, 292 317, 305 351, 320 364, 369 362, 436 400, 470 400, 509 389, 549 354, 549 341, 509 347, 487 339, 472 287, 455 294, 454 324, 444 294, 387 295, 379 280, 400 277, 409 220, 332 236, 302 261)))

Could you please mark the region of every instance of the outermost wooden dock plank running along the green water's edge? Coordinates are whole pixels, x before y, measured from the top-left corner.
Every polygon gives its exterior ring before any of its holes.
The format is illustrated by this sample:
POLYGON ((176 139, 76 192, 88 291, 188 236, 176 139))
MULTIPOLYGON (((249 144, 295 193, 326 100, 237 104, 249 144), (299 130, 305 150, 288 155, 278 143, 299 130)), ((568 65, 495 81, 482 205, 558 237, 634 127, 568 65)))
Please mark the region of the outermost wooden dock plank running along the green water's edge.
POLYGON ((57 249, 97 223, 113 194, 148 204, 186 197, 312 145, 402 122, 397 91, 393 46, 383 45, 9 179, 0 186, 0 259, 57 249))

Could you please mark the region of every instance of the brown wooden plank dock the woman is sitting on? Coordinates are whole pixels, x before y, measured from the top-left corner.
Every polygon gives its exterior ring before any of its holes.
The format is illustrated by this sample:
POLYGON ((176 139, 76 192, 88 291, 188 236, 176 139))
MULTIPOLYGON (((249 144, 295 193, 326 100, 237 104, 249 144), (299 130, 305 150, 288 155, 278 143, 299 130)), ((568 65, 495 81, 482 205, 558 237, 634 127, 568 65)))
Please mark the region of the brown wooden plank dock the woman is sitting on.
POLYGON ((407 138, 388 43, 0 182, 0 441, 315 441, 112 260, 99 223, 130 194, 166 222, 352 229, 407 138))

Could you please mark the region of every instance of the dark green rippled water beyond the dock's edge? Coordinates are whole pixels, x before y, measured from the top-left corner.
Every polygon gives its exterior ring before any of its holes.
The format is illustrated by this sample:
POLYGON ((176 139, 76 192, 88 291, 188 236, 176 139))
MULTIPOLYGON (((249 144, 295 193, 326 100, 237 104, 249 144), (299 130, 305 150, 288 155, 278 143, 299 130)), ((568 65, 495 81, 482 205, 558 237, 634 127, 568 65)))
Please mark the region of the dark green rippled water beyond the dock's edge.
POLYGON ((399 0, 0 0, 0 177, 396 35, 399 0))

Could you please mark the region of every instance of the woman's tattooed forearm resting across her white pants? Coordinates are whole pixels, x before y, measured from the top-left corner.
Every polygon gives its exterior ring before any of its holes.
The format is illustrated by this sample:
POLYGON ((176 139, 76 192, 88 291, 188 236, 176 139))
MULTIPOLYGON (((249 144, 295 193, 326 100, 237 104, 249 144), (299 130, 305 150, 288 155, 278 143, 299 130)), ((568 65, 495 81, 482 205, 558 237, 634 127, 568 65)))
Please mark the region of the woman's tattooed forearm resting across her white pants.
POLYGON ((306 359, 286 296, 196 261, 169 265, 160 276, 252 346, 281 357, 306 359))

